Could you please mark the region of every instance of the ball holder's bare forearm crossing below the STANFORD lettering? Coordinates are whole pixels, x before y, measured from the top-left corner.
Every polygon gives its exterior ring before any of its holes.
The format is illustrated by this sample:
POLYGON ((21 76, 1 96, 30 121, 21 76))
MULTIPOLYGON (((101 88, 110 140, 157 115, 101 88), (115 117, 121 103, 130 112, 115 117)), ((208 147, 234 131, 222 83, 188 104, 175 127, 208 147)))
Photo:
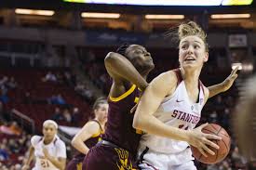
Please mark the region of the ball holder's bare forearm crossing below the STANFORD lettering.
POLYGON ((189 134, 188 131, 179 129, 177 127, 169 126, 163 124, 153 115, 146 115, 141 117, 136 117, 133 121, 134 128, 140 129, 149 134, 153 134, 161 137, 168 137, 175 140, 188 141, 189 134))

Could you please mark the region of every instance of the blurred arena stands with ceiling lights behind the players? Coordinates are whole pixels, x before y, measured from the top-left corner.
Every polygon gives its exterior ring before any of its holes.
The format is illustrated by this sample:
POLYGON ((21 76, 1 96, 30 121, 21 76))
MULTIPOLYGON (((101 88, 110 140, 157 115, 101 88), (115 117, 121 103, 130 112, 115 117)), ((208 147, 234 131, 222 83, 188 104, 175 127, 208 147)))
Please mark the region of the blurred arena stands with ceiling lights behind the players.
MULTIPOLYGON (((92 114, 95 98, 107 96, 112 80, 103 59, 123 43, 146 46, 155 60, 149 81, 179 67, 170 28, 195 20, 208 33, 205 85, 221 83, 239 66, 233 87, 210 98, 201 123, 221 124, 233 137, 230 117, 239 89, 256 58, 253 0, 1 0, 0 169, 19 170, 30 138, 54 119, 72 156, 70 140, 92 114), (75 2, 76 1, 76 2, 75 2)), ((244 159, 236 138, 228 157, 198 170, 256 169, 244 159)))

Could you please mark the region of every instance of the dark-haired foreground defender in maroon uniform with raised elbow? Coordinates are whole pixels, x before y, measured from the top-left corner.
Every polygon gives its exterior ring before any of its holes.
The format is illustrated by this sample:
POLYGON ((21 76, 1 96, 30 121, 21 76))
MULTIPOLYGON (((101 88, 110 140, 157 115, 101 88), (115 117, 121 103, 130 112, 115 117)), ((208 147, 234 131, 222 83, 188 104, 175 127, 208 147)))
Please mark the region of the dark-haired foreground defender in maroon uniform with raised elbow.
POLYGON ((132 127, 131 108, 148 85, 146 77, 154 69, 153 59, 143 46, 124 45, 105 58, 113 78, 109 93, 109 114, 101 142, 89 150, 83 169, 132 170, 141 134, 132 127), (126 58, 125 58, 125 57, 126 58))

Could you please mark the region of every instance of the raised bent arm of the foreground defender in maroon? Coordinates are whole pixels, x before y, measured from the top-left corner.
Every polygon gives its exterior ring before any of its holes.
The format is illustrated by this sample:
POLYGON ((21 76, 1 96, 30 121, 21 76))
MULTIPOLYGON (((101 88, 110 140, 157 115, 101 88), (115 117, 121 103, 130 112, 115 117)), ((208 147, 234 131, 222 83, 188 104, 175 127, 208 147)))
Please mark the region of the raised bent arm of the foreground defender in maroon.
POLYGON ((124 56, 110 52, 104 59, 105 67, 110 76, 115 80, 127 80, 138 86, 141 90, 147 87, 146 80, 124 56))

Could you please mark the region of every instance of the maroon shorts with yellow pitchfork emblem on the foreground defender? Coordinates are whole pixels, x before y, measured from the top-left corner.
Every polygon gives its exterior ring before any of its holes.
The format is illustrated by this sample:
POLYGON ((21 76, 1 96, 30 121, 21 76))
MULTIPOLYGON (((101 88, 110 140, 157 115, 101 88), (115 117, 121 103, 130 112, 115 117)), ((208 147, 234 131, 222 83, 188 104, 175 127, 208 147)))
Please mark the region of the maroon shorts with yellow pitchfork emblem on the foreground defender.
POLYGON ((128 150, 98 144, 88 151, 83 170, 136 170, 128 150))

